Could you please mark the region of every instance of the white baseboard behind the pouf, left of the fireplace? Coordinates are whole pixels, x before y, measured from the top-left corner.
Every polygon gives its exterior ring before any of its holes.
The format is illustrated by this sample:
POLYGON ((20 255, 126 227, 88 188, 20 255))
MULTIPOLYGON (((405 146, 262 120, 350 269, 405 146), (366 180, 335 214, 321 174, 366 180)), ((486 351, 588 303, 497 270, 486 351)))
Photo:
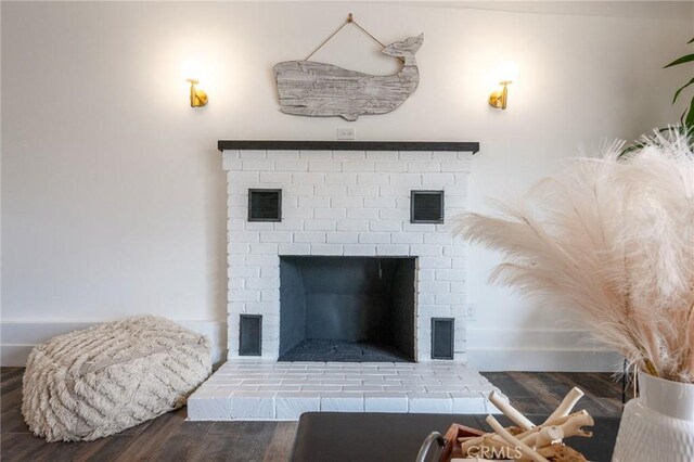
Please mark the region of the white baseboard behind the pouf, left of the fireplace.
MULTIPOLYGON (((174 320, 206 335, 213 345, 213 363, 227 359, 227 322, 174 320)), ((104 321, 106 322, 106 321, 104 321)), ((24 367, 31 349, 55 335, 90 328, 99 322, 0 322, 0 365, 24 367)))

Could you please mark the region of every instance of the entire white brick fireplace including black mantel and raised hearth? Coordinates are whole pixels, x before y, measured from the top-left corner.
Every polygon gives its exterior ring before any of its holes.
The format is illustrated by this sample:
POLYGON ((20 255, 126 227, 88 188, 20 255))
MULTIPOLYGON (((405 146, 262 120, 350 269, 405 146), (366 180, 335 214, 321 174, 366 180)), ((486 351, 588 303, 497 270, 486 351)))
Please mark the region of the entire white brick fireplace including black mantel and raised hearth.
POLYGON ((228 178, 229 360, 190 397, 191 420, 496 411, 487 399, 493 386, 465 364, 465 245, 453 234, 477 143, 220 141, 219 149, 228 178), (281 220, 249 220, 249 190, 281 190, 281 220), (432 191, 444 193, 435 208, 445 221, 411 222, 411 195, 432 191), (411 320, 414 362, 278 362, 281 293, 293 286, 281 261, 316 256, 407 260, 398 291, 412 308, 398 322, 411 320), (240 349, 242 317, 259 322, 254 357, 240 349), (433 319, 452 333, 448 360, 433 359, 433 319))

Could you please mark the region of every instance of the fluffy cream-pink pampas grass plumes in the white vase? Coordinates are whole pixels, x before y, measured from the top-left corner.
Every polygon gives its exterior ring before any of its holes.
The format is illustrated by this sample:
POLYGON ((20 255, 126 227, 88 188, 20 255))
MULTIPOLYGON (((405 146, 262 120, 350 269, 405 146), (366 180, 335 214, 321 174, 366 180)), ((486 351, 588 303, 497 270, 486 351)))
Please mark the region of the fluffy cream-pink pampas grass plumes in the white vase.
POLYGON ((504 254, 493 281, 549 298, 631 364, 694 383, 694 154, 676 130, 570 159, 458 232, 504 254))

